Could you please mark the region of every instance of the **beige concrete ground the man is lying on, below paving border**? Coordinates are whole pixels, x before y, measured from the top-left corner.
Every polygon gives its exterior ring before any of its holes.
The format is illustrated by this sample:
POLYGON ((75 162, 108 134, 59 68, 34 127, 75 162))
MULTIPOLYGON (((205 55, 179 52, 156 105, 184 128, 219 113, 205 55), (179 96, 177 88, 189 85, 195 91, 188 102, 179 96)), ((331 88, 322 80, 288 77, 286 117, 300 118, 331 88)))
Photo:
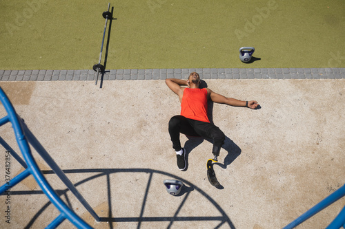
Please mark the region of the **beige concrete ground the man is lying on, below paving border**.
MULTIPOLYGON (((180 106, 164 80, 106 80, 101 89, 87 80, 1 87, 103 221, 92 219, 34 152, 48 182, 94 228, 282 228, 344 185, 343 78, 205 81, 219 94, 261 105, 209 104, 227 137, 214 166, 222 189, 206 177, 208 140, 181 136, 188 169, 177 168, 168 121, 180 106), (184 182, 181 195, 169 195, 164 179, 184 182)), ((10 124, 0 135, 19 153, 10 124)), ((5 156, 0 161, 3 183, 5 156)), ((11 171, 23 171, 14 158, 11 171)), ((43 228, 59 215, 32 177, 10 198, 11 223, 2 213, 1 228, 43 228)), ((0 196, 1 212, 5 202, 0 196)), ((297 228, 325 228, 344 205, 342 198, 297 228)))

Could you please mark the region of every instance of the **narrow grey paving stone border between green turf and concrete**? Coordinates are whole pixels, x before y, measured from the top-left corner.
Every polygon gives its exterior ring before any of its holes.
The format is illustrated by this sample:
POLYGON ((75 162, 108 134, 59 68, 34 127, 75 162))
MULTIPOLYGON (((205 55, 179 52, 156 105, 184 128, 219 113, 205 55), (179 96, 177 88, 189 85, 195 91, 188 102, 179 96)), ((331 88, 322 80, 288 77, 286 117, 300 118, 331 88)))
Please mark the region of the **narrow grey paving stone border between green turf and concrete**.
MULTIPOLYGON (((186 79, 190 72, 203 79, 342 79, 345 68, 184 68, 110 69, 99 80, 186 79)), ((0 70, 0 81, 95 80, 96 72, 85 70, 0 70)))

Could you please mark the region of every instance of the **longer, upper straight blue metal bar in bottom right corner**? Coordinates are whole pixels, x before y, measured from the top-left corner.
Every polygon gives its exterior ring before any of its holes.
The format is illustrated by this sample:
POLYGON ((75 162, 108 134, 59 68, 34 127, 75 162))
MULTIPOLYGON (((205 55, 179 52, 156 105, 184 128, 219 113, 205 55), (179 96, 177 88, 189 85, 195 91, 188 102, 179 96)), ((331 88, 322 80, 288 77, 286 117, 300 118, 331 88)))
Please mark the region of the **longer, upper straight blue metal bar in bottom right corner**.
POLYGON ((285 226, 283 229, 290 229, 290 228, 295 228, 295 226, 298 226, 300 223, 303 223, 313 215, 317 214, 317 212, 323 210, 324 208, 330 206, 333 204, 335 201, 338 199, 342 198, 345 196, 345 185, 336 190, 334 193, 331 195, 328 195, 325 199, 320 201, 318 204, 313 206, 313 208, 307 210, 302 214, 300 217, 289 223, 287 226, 285 226))

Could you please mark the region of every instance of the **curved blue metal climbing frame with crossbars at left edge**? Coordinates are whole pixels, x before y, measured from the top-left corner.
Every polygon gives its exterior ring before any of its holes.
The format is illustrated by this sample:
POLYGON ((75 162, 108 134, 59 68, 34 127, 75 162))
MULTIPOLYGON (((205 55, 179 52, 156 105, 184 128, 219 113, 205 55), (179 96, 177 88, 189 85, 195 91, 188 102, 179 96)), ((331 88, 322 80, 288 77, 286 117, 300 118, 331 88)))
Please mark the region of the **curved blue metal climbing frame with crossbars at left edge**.
POLYGON ((73 194, 76 195, 76 197, 81 201, 81 204, 86 207, 86 209, 90 212, 90 214, 96 219, 96 221, 99 221, 98 215, 95 213, 95 211, 92 210, 92 208, 88 205, 87 201, 83 199, 83 197, 80 195, 80 193, 77 191, 75 186, 70 182, 70 180, 66 177, 66 175, 61 171, 59 166, 55 164, 54 160, 48 155, 48 153, 43 149, 43 146, 39 144, 36 138, 34 138, 34 135, 30 132, 28 127, 26 127, 26 124, 19 118, 16 111, 14 110, 14 107, 12 106, 12 103, 6 96, 3 89, 0 87, 0 100, 3 104, 3 107, 5 107, 6 112, 8 113, 7 116, 0 119, 0 126, 3 124, 6 124, 8 122, 11 122, 12 128, 14 130, 14 135, 17 140, 17 144, 19 145, 19 149, 21 150, 21 153, 24 157, 25 162, 13 151, 12 148, 0 137, 0 144, 8 151, 10 151, 10 154, 24 167, 26 168, 25 171, 17 175, 16 177, 13 177, 10 182, 3 184, 3 186, 0 187, 0 195, 4 193, 8 188, 12 188, 19 182, 21 182, 23 179, 28 177, 29 175, 33 175, 34 179, 36 179, 37 183, 43 190, 43 193, 47 195, 47 197, 50 199, 52 204, 55 205, 55 207, 60 211, 60 215, 54 219, 47 228, 57 228, 60 223, 62 223, 65 219, 68 219, 73 225, 75 225, 77 228, 92 228, 88 225, 83 219, 81 219, 72 209, 70 209, 55 193, 55 190, 50 186, 50 184, 47 182, 46 178, 43 176, 43 173, 39 169, 39 166, 37 166, 37 163, 34 161, 34 158, 32 157, 32 153, 30 150, 29 142, 32 144, 32 146, 37 150, 37 153, 43 157, 43 160, 46 160, 47 164, 52 168, 52 170, 60 177, 60 179, 68 186, 68 188, 72 191, 73 194))

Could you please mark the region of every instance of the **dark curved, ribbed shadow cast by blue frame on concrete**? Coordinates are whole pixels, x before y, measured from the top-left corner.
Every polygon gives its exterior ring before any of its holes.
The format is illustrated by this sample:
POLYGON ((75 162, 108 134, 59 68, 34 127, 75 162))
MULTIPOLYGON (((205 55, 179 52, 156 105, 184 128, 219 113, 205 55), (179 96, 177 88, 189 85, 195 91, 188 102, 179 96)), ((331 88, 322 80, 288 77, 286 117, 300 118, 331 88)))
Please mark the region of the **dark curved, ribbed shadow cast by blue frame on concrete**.
MULTIPOLYGON (((75 186, 79 186, 85 182, 89 182, 92 179, 97 179, 99 177, 106 176, 106 185, 107 185, 107 190, 108 190, 108 206, 109 206, 109 211, 108 211, 108 217, 100 217, 101 222, 109 222, 110 228, 113 228, 111 222, 137 222, 137 228, 141 228, 141 223, 142 222, 157 222, 157 221, 166 221, 169 222, 169 225, 167 228, 170 228, 172 224, 175 221, 217 221, 219 222, 217 224, 216 228, 219 228, 223 225, 228 225, 230 228, 235 228, 233 225, 232 221, 229 219, 228 215, 226 215, 226 212, 217 204, 217 202, 211 198, 209 195, 207 195, 203 190, 195 186, 194 184, 188 182, 187 180, 177 177, 176 175, 172 175, 170 173, 166 173, 164 171, 157 171, 157 170, 152 170, 148 168, 112 168, 112 169, 107 169, 107 168, 94 168, 94 169, 69 169, 69 170, 64 170, 63 171, 66 174, 71 174, 71 173, 96 173, 96 175, 91 175, 90 177, 81 180, 80 182, 77 182, 75 186), (144 194, 144 201, 141 204, 141 212, 139 217, 112 217, 113 212, 112 212, 112 194, 111 194, 111 188, 110 188, 110 175, 112 173, 148 173, 149 178, 148 178, 148 183, 146 186, 145 194, 144 194), (148 197, 148 190, 152 184, 152 175, 154 174, 160 174, 160 175, 166 175, 168 177, 172 177, 173 179, 179 179, 181 182, 184 182, 184 186, 181 190, 181 193, 179 196, 184 196, 181 204, 175 210, 175 213, 173 214, 172 217, 144 217, 144 208, 146 206, 146 199, 148 197), (197 190, 201 195, 203 195, 207 201, 209 201, 219 212, 219 216, 210 216, 210 217, 180 217, 177 216, 183 208, 184 204, 186 203, 190 193, 192 193, 194 190, 197 190)), ((48 174, 54 174, 53 171, 42 171, 43 174, 48 175, 48 174)), ((68 198, 68 188, 64 190, 55 190, 57 194, 60 197, 65 197, 66 198, 66 204, 72 208, 72 204, 70 203, 70 199, 68 198)), ((13 191, 11 193, 12 195, 42 195, 43 192, 41 190, 33 190, 33 191, 13 191)), ((37 212, 34 217, 30 220, 30 222, 26 225, 25 228, 31 228, 34 224, 34 221, 50 206, 50 201, 47 202, 39 211, 37 212)), ((205 212, 207 212, 207 209, 205 209, 205 212)))

